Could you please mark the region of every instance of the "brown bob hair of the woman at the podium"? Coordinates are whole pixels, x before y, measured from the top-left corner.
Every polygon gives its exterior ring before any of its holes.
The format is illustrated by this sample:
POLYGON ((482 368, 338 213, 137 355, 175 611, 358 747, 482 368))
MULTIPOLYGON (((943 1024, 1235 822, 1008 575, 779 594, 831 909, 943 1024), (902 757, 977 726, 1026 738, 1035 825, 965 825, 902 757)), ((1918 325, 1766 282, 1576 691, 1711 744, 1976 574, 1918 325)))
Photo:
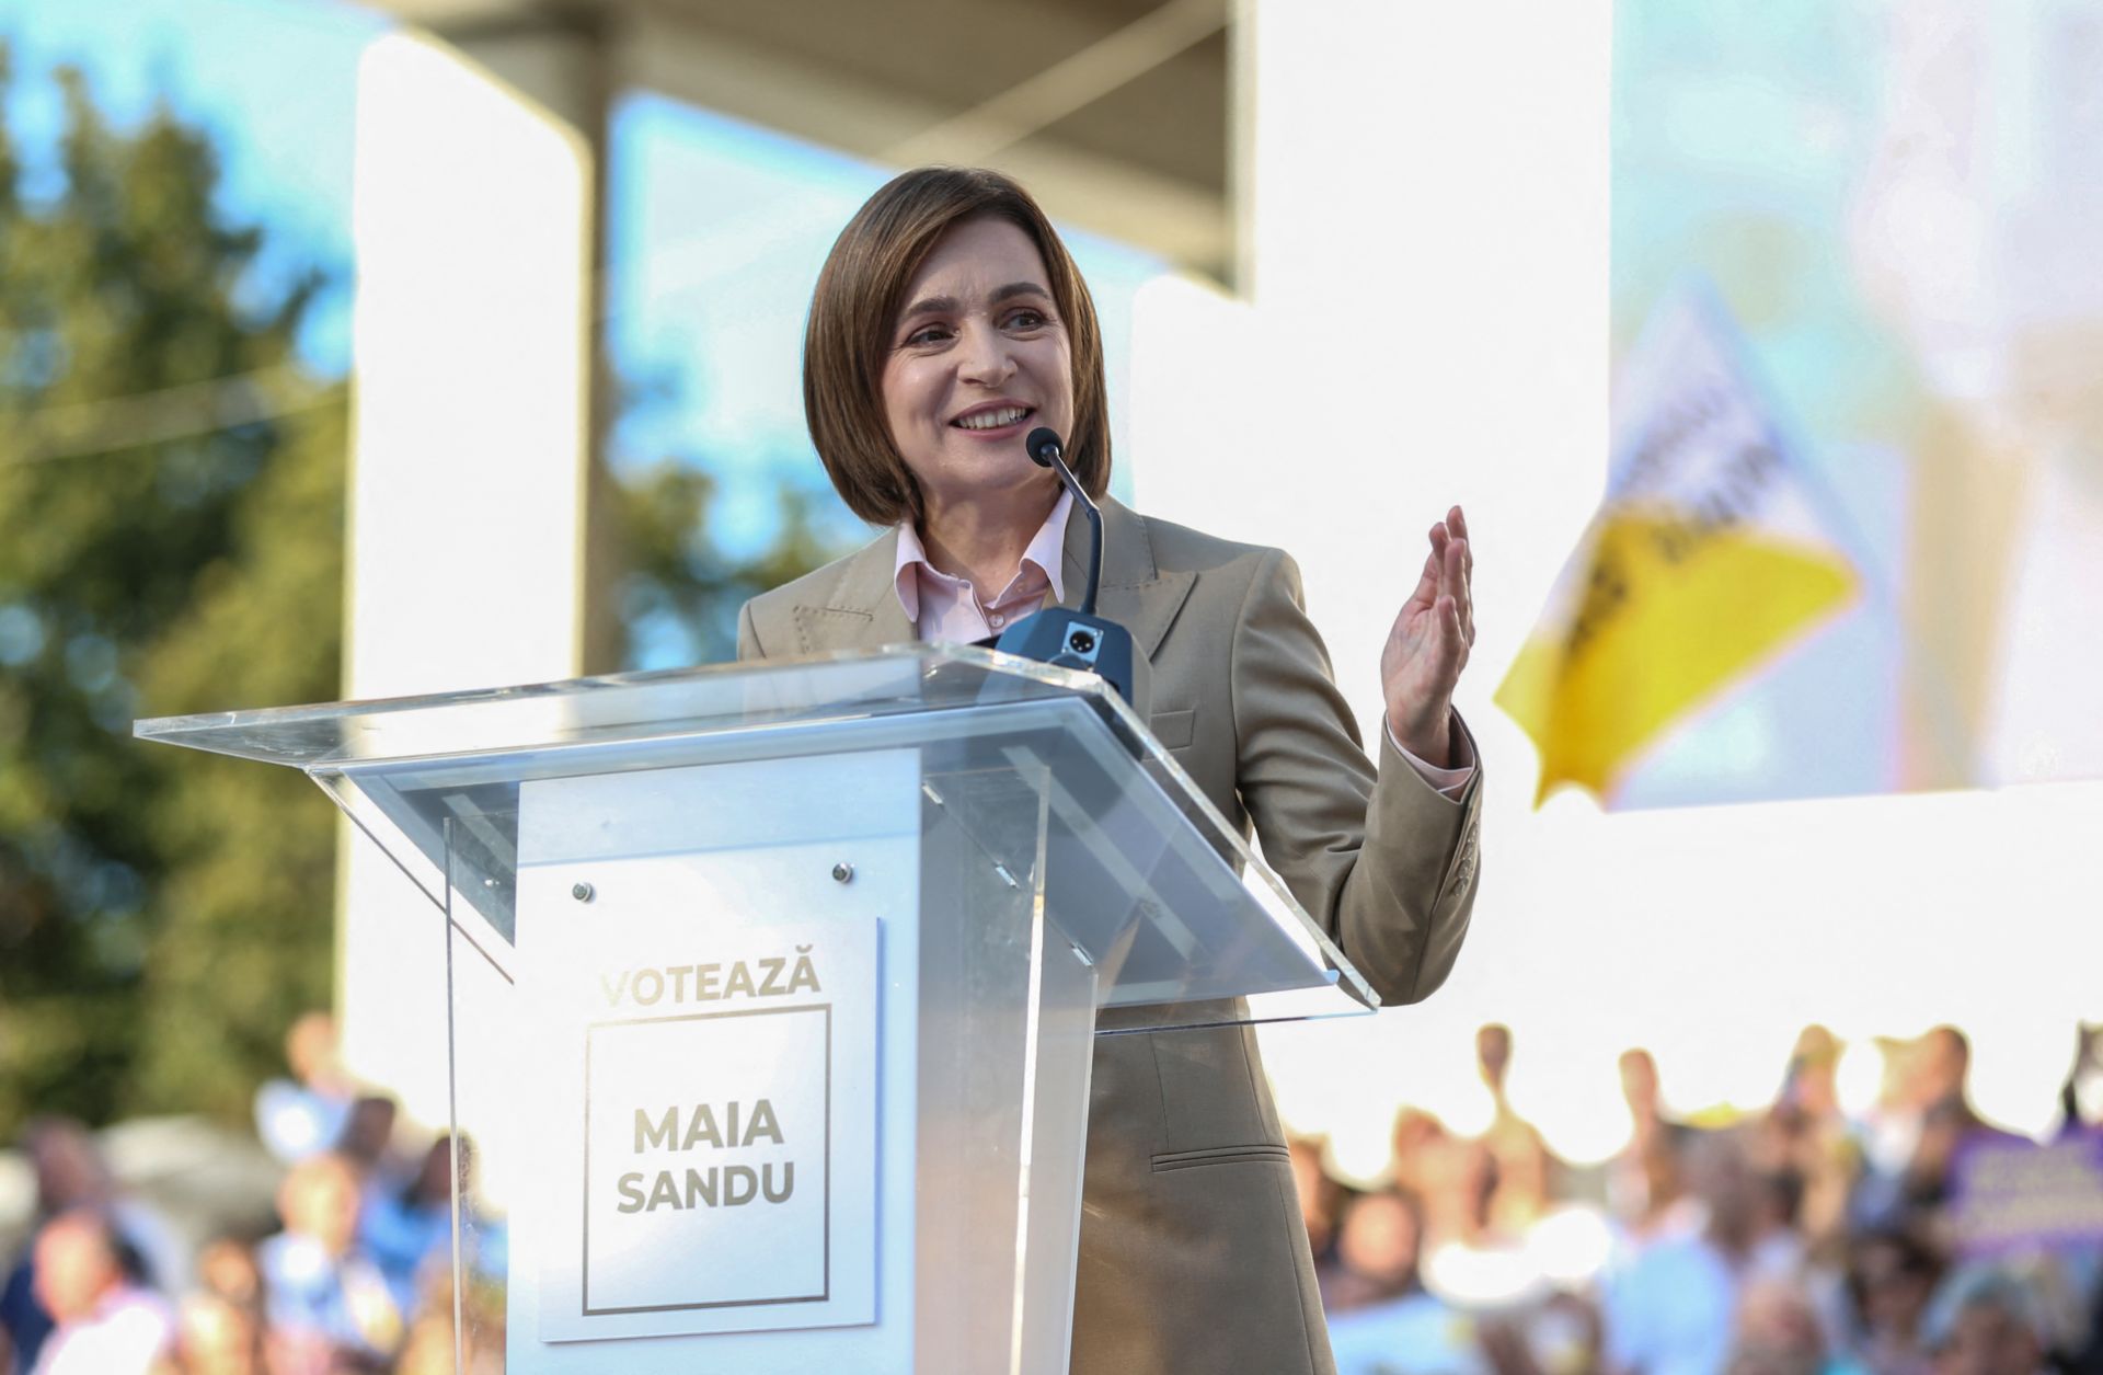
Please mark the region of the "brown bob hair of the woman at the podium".
POLYGON ((1110 412, 1102 383, 1102 326, 1087 282, 1028 191, 984 168, 900 172, 856 210, 833 242, 803 330, 803 418, 841 500, 873 526, 921 517, 921 492, 883 416, 892 324, 921 263, 953 225, 1005 219, 1037 244, 1052 303, 1073 351, 1073 433, 1066 463, 1089 496, 1110 486, 1110 412))

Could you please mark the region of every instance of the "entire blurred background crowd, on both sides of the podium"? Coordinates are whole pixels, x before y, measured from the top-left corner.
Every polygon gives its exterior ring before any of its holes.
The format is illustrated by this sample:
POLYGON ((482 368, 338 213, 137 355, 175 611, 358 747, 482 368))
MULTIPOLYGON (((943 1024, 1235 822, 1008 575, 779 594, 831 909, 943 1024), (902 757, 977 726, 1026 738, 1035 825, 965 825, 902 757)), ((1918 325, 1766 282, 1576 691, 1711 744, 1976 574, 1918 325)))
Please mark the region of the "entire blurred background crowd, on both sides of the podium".
MULTIPOLYGON (((2042 1148, 1973 1110, 1964 1037, 1888 1043, 1884 1093, 1857 1114, 1838 1051, 1809 1028, 1773 1104, 1699 1121, 1668 1114, 1651 1055, 1628 1051, 1628 1142, 1573 1167, 1512 1108, 1512 1037, 1485 1026, 1483 1133, 1405 1108, 1369 1188, 1293 1142, 1340 1375, 2103 1375, 2103 1030, 2084 1028, 2061 1104, 2061 1140, 2095 1144, 2097 1192, 2074 1205, 2095 1215, 1992 1236, 1968 1152, 2042 1148)), ((36 1217, 0 1255, 0 1375, 503 1369, 501 1226, 463 1226, 454 1293, 465 1144, 404 1150, 395 1104, 336 1070, 326 1015, 286 1058, 257 1093, 273 1215, 202 1245, 124 1192, 80 1123, 29 1125, 36 1217)))

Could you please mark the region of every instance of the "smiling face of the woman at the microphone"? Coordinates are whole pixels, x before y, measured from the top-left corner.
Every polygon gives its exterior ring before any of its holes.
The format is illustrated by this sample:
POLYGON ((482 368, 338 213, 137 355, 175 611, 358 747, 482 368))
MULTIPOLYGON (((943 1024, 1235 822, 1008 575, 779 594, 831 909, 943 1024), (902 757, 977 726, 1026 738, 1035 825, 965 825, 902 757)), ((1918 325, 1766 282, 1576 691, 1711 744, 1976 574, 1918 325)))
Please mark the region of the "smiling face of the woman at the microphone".
POLYGON ((883 416, 930 509, 1056 488, 1022 437, 1073 429, 1073 345, 1043 256, 1005 219, 951 227, 892 322, 883 416))

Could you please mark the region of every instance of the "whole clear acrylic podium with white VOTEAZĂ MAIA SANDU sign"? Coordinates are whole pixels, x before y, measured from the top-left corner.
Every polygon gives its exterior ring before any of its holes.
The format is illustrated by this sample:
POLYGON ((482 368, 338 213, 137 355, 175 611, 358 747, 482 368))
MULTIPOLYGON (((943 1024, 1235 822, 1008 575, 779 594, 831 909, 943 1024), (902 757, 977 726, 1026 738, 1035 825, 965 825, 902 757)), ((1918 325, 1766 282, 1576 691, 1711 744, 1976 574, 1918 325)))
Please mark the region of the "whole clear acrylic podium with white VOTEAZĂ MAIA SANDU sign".
POLYGON ((446 915, 513 1373, 1062 1375, 1094 1037, 1377 1005, 1100 679, 986 650, 137 734, 305 769, 446 915))

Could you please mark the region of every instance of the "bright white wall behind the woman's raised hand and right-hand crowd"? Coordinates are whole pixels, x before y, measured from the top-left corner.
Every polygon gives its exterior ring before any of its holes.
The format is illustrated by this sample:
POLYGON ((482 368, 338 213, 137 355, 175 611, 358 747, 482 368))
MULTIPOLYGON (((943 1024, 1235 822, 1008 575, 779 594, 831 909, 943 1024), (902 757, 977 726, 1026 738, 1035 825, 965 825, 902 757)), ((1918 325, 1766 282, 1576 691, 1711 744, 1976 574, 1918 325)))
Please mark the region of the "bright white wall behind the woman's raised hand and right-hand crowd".
POLYGON ((1756 1106, 1804 1022, 1952 1020, 1981 1108, 2042 1129, 2074 1018, 2103 1013, 2103 788, 1535 814, 1533 746, 1489 704, 1605 479, 1609 0, 1245 0, 1239 25, 1253 303, 1142 294, 1138 502, 1293 551, 1367 725, 1455 500, 1478 559, 1468 950, 1422 1007, 1266 1032, 1285 1114, 1377 1169, 1405 1097, 1483 1121, 1472 1032, 1502 1020, 1518 1106, 1596 1158, 1628 1045, 1682 1110, 1756 1106))

